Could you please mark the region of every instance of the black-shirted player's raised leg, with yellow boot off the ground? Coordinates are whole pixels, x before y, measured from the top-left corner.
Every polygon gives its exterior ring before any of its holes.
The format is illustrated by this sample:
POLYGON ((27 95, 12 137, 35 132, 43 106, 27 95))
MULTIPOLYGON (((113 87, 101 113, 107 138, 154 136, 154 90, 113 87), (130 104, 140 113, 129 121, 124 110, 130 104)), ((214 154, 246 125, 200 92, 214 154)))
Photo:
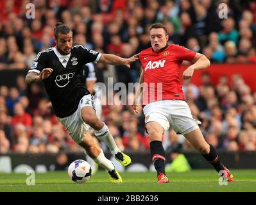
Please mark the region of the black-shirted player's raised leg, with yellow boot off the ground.
POLYGON ((131 158, 121 152, 117 147, 108 126, 98 119, 92 106, 83 106, 83 108, 81 108, 81 117, 86 124, 94 129, 94 133, 97 138, 108 146, 111 153, 115 156, 115 159, 119 161, 119 163, 121 163, 124 167, 128 167, 132 163, 131 158))

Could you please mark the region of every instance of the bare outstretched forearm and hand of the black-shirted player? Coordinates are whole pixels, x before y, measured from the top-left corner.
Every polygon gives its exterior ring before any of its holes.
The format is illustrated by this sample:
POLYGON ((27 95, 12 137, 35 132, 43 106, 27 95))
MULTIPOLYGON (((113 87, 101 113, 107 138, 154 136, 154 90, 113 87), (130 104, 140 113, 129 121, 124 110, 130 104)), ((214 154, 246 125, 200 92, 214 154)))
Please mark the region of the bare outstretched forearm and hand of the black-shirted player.
POLYGON ((126 67, 130 68, 130 64, 137 60, 138 58, 132 56, 130 58, 121 58, 119 56, 115 56, 114 54, 101 54, 99 58, 99 62, 106 63, 110 65, 125 65, 126 67))

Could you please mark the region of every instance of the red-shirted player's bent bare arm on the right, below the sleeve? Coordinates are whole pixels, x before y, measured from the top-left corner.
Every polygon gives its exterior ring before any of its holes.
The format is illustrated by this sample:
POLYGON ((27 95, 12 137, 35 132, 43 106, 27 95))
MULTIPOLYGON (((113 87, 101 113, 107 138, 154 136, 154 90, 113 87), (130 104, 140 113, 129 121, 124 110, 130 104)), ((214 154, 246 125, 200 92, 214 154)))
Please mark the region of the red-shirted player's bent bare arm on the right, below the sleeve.
POLYGON ((192 63, 193 64, 183 72, 183 79, 192 78, 194 70, 203 70, 210 66, 209 59, 201 53, 196 53, 196 55, 194 56, 194 60, 192 60, 192 63))

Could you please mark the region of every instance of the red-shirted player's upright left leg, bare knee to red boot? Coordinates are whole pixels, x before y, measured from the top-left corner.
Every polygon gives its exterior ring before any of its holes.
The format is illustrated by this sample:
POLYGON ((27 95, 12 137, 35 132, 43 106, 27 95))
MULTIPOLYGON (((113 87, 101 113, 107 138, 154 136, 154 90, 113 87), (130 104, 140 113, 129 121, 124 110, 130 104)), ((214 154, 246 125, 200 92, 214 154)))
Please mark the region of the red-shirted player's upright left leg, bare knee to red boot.
POLYGON ((168 183, 169 179, 166 177, 165 171, 166 152, 162 145, 164 128, 158 122, 151 121, 146 124, 146 129, 149 136, 151 159, 157 170, 158 183, 168 183))

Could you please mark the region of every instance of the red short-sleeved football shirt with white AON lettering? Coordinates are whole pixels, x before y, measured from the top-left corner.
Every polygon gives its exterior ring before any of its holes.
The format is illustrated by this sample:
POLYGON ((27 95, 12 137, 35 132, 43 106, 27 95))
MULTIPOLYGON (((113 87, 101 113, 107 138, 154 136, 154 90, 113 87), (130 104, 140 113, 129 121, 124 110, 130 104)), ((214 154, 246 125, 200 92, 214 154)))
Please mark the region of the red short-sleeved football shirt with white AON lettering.
POLYGON ((192 61, 196 53, 180 45, 167 45, 156 53, 151 47, 141 51, 144 72, 143 104, 164 99, 183 100, 180 65, 192 61))

